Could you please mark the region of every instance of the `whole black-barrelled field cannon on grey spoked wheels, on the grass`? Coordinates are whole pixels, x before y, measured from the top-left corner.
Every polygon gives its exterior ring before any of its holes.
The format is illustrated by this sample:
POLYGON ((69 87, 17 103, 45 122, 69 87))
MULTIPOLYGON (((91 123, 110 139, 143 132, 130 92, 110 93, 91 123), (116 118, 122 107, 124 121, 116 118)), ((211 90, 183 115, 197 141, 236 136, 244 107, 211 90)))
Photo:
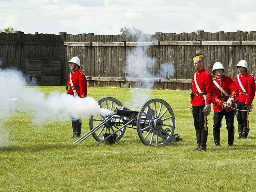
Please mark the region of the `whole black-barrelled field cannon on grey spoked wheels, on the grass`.
POLYGON ((140 140, 148 146, 161 146, 169 141, 182 140, 178 134, 174 134, 175 117, 172 108, 162 99, 148 100, 139 111, 125 108, 119 100, 112 97, 100 99, 98 104, 100 108, 112 112, 108 115, 90 116, 90 131, 74 144, 81 143, 90 135, 98 141, 95 146, 111 137, 119 141, 124 136, 126 128, 137 129, 140 140))

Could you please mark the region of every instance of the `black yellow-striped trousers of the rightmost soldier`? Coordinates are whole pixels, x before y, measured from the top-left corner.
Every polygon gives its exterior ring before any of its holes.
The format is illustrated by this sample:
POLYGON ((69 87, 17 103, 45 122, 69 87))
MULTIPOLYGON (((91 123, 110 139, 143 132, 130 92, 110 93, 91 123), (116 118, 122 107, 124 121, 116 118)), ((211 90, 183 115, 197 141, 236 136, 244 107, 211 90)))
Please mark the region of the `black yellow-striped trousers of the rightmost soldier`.
MULTIPOLYGON (((247 110, 245 103, 241 103, 239 100, 236 101, 236 105, 237 105, 237 109, 247 110)), ((249 129, 249 120, 248 120, 249 111, 237 111, 237 113, 238 113, 236 116, 237 126, 239 127, 243 125, 243 128, 249 129)))

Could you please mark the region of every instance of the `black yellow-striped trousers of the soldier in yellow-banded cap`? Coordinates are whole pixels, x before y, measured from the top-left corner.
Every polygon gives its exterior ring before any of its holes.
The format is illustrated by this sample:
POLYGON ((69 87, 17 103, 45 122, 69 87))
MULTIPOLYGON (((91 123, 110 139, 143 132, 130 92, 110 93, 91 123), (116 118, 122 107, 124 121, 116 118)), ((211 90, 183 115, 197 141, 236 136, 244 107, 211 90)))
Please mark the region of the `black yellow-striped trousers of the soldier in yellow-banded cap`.
POLYGON ((208 130, 208 121, 207 121, 207 116, 203 115, 203 108, 205 105, 200 105, 200 106, 193 106, 193 118, 194 118, 194 126, 195 129, 204 129, 208 130))

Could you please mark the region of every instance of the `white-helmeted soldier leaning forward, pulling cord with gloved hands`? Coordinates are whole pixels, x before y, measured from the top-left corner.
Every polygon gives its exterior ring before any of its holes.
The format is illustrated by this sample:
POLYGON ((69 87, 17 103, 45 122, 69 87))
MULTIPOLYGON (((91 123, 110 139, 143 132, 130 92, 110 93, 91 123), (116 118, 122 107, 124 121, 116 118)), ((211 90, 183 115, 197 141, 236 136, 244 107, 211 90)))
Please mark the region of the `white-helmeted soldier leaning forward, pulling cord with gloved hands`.
POLYGON ((226 119, 228 130, 228 147, 233 146, 235 136, 235 110, 234 99, 238 96, 238 88, 230 76, 223 75, 225 69, 220 62, 215 62, 212 67, 212 74, 214 75, 213 89, 214 95, 212 97, 213 103, 213 138, 214 146, 220 145, 220 127, 223 116, 226 119), (230 108, 230 106, 232 108, 230 108))

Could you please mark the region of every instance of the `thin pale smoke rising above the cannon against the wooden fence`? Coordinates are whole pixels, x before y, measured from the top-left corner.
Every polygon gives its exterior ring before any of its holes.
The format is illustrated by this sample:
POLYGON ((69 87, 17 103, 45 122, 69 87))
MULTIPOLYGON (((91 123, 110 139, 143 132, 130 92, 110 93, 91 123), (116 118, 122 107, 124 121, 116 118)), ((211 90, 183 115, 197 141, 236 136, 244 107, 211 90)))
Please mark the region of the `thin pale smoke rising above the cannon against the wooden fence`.
MULTIPOLYGON (((148 42, 151 39, 140 37, 138 42, 148 42)), ((162 63, 157 66, 157 60, 152 55, 149 56, 150 46, 134 46, 129 52, 126 60, 125 73, 127 78, 171 78, 174 76, 176 69, 172 62, 162 63), (157 69, 157 71, 155 71, 157 69)), ((127 84, 130 84, 128 82, 127 84)), ((131 85, 131 84, 130 84, 131 85)), ((126 103, 127 107, 132 110, 139 110, 139 108, 149 100, 152 89, 155 83, 148 81, 142 83, 132 84, 130 93, 132 98, 126 103), (141 89, 141 86, 147 88, 141 89)), ((128 85, 126 85, 128 87, 128 85)), ((131 86, 130 86, 131 87, 131 86)))

